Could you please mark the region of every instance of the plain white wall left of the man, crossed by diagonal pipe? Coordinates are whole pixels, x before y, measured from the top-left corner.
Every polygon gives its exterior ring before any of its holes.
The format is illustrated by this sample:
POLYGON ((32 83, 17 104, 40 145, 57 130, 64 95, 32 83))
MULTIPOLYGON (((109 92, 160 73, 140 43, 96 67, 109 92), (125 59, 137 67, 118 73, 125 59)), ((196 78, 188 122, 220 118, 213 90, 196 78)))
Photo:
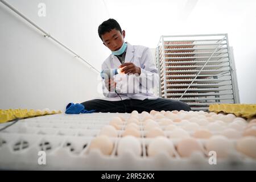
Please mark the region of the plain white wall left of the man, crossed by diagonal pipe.
MULTIPOLYGON (((108 19, 102 1, 7 0, 96 68, 109 55, 98 38, 108 19), (46 17, 38 16, 39 2, 46 17)), ((64 110, 68 102, 101 96, 98 74, 0 3, 0 109, 64 110)))

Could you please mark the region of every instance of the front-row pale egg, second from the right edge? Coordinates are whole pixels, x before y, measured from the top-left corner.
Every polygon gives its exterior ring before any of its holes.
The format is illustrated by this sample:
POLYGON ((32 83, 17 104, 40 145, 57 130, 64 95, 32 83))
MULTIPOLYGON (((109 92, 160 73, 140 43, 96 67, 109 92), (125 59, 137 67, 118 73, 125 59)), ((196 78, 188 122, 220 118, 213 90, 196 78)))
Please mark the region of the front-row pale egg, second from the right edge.
POLYGON ((222 135, 214 135, 206 144, 207 152, 216 152, 217 158, 225 158, 233 150, 232 143, 222 135))

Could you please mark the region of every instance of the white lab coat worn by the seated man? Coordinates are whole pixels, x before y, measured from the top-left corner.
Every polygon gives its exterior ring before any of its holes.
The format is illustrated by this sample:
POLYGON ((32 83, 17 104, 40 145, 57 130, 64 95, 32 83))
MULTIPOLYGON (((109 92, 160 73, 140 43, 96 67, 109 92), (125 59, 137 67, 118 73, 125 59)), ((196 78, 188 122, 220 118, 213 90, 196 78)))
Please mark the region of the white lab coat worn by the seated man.
MULTIPOLYGON (((158 69, 154 64, 150 49, 144 46, 132 46, 127 43, 125 63, 133 63, 141 68, 141 75, 127 75, 118 74, 114 76, 114 81, 117 82, 116 90, 122 100, 137 99, 144 100, 156 99, 152 93, 152 89, 158 86, 159 75, 158 69), (132 86, 133 85, 133 86, 132 86)), ((121 65, 117 56, 110 55, 102 64, 102 70, 114 69, 121 65)), ((120 101, 117 93, 110 93, 105 87, 104 80, 102 80, 102 89, 104 98, 102 100, 120 101)))

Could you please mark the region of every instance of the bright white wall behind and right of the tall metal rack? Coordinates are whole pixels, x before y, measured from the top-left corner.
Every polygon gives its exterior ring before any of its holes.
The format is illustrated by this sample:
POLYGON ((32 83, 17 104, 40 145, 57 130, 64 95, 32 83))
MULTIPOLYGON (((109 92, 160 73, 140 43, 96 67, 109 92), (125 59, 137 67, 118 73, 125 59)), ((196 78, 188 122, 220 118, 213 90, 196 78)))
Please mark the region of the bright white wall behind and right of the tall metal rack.
POLYGON ((161 35, 228 34, 241 103, 256 103, 255 0, 104 0, 126 40, 155 48, 161 35))

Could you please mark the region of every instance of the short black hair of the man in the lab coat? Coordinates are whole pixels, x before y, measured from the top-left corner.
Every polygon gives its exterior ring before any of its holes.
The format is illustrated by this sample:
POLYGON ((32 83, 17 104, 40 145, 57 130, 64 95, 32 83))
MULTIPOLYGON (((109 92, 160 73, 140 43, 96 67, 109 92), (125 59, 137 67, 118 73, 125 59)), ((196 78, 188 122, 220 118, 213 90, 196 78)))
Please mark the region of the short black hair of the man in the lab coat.
POLYGON ((98 26, 98 36, 101 38, 101 35, 105 34, 106 32, 110 32, 113 29, 119 30, 122 34, 122 29, 117 20, 110 18, 98 26))

